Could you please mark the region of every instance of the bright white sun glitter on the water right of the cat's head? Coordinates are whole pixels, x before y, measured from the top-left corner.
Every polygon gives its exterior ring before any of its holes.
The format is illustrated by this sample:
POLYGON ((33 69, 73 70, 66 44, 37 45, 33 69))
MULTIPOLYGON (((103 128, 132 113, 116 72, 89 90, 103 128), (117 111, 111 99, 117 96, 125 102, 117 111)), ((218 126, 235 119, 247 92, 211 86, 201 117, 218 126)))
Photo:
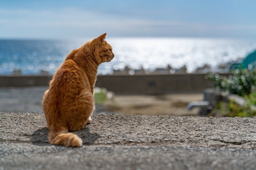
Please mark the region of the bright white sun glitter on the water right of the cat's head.
POLYGON ((255 41, 248 45, 229 39, 116 38, 108 42, 116 56, 112 62, 115 70, 126 65, 135 70, 141 66, 154 70, 169 64, 173 68, 186 65, 188 72, 193 72, 204 64, 216 67, 245 57, 256 48, 255 41))

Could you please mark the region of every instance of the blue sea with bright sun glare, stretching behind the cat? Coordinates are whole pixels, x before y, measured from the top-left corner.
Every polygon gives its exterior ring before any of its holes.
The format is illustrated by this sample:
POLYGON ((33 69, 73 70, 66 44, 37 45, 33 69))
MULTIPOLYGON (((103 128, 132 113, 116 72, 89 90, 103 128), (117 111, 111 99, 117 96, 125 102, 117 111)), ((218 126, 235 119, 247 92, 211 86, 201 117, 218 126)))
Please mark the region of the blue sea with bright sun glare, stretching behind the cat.
MULTIPOLYGON (((79 40, 0 40, 0 75, 38 75, 41 71, 54 74, 67 54, 90 39, 79 40)), ((109 63, 102 63, 98 74, 113 70, 144 68, 174 69, 187 67, 189 73, 208 64, 212 69, 232 62, 256 50, 254 39, 174 38, 174 37, 115 37, 106 38, 115 54, 109 63)))

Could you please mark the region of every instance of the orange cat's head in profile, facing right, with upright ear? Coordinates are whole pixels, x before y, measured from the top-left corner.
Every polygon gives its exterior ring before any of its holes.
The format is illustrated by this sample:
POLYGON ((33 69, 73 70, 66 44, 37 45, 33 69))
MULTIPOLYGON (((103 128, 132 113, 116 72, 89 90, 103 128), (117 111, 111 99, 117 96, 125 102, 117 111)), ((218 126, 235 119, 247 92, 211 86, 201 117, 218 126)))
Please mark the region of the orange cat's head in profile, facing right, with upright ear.
POLYGON ((103 33, 101 36, 93 39, 91 43, 94 44, 94 55, 97 62, 110 62, 114 58, 112 47, 105 41, 107 33, 103 33))

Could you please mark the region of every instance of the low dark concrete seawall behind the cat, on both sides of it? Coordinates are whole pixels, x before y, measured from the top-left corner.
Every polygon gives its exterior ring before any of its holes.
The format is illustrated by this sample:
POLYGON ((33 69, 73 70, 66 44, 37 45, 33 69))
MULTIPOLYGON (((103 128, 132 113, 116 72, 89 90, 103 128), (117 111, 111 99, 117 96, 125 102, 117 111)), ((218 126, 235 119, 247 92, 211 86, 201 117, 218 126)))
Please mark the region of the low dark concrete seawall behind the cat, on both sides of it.
MULTIPOLYGON (((116 94, 201 93, 213 83, 206 74, 99 75, 96 86, 116 94)), ((0 87, 48 86, 52 76, 0 76, 0 87)))

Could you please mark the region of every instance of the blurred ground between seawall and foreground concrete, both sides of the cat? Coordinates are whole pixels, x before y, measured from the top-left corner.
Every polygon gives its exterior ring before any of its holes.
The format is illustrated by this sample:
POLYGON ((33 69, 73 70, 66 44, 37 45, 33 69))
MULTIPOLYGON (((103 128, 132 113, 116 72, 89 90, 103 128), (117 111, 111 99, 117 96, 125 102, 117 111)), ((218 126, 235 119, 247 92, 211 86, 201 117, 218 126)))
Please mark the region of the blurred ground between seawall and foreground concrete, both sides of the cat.
MULTIPOLYGON (((1 112, 43 112, 42 97, 48 86, 39 87, 1 87, 1 112)), ((187 110, 187 104, 201 101, 203 94, 167 94, 167 95, 116 95, 103 106, 96 106, 96 112, 108 112, 136 115, 197 115, 199 110, 187 110)))

